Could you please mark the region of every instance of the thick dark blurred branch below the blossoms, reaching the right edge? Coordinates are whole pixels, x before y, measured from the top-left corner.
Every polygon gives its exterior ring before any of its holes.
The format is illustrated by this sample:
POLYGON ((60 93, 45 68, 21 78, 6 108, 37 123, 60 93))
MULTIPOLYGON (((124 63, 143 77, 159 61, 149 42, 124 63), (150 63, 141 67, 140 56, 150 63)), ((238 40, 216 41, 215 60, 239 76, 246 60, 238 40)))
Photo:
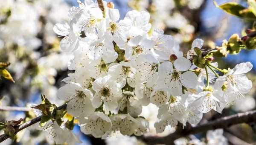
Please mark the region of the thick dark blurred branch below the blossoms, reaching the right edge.
POLYGON ((138 139, 143 140, 148 145, 155 145, 155 144, 173 145, 173 142, 175 139, 178 139, 183 136, 206 132, 206 131, 214 130, 217 128, 229 128, 232 125, 237 125, 240 123, 250 123, 250 122, 256 122, 256 110, 248 111, 245 113, 238 113, 231 116, 226 116, 211 122, 204 123, 202 125, 197 125, 195 127, 191 127, 187 125, 183 129, 181 125, 178 125, 176 131, 167 136, 163 136, 163 137, 144 136, 144 137, 138 137, 138 139))

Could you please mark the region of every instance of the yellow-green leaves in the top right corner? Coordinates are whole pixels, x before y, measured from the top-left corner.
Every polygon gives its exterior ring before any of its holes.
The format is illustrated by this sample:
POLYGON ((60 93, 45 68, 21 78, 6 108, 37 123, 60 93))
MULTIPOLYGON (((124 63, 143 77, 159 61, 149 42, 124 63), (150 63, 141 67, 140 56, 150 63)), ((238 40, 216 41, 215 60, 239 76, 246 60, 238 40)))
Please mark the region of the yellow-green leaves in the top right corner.
POLYGON ((213 0, 213 3, 215 4, 216 7, 218 7, 219 9, 223 10, 224 12, 228 13, 228 14, 232 14, 236 17, 240 17, 246 20, 256 20, 256 16, 254 14, 255 9, 248 9, 245 8, 244 6, 239 5, 236 2, 228 2, 228 3, 224 3, 221 5, 218 5, 215 0, 213 0))

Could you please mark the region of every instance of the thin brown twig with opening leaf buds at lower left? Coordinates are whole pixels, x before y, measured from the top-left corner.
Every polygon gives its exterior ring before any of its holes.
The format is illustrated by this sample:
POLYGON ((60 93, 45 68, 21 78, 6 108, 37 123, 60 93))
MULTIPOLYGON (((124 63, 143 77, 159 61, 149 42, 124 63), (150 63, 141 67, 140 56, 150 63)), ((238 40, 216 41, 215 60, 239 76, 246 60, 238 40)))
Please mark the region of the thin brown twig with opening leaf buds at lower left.
MULTIPOLYGON (((64 109, 64 108, 66 108, 66 107, 67 107, 67 104, 63 104, 63 105, 61 105, 60 107, 58 107, 57 109, 58 109, 58 110, 61 110, 61 109, 64 109)), ((37 123, 37 122, 40 122, 40 121, 41 121, 41 116, 38 116, 38 117, 36 117, 36 118, 34 118, 34 119, 32 119, 32 120, 29 120, 28 122, 25 122, 25 123, 23 123, 23 124, 21 124, 21 125, 17 125, 17 126, 15 127, 15 134, 18 133, 19 131, 21 131, 21 130, 23 130, 23 129, 29 127, 29 126, 31 126, 31 125, 34 125, 34 124, 37 123)), ((7 134, 2 134, 2 135, 0 136, 0 142, 3 142, 4 140, 8 139, 9 137, 10 137, 10 136, 8 136, 7 134)))

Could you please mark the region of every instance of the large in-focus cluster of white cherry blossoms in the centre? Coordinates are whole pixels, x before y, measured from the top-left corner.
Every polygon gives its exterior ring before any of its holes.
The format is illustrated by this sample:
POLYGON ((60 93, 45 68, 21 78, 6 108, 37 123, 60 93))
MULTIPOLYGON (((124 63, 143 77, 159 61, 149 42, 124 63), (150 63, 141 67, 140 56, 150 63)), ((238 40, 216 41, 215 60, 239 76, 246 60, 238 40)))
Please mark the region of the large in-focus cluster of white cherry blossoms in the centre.
POLYGON ((203 113, 221 113, 252 88, 245 75, 253 67, 250 62, 221 70, 199 55, 204 50, 201 39, 183 55, 171 35, 160 29, 149 33, 148 12, 132 10, 119 20, 113 3, 104 2, 102 11, 93 0, 85 0, 68 15, 69 22, 57 23, 53 30, 63 37, 61 49, 73 55, 68 68, 74 73, 63 79, 66 84, 57 96, 67 102, 67 113, 85 134, 141 136, 149 128, 140 115, 148 104, 159 107, 157 133, 178 122, 196 125, 203 113), (194 64, 196 57, 200 62, 194 64))

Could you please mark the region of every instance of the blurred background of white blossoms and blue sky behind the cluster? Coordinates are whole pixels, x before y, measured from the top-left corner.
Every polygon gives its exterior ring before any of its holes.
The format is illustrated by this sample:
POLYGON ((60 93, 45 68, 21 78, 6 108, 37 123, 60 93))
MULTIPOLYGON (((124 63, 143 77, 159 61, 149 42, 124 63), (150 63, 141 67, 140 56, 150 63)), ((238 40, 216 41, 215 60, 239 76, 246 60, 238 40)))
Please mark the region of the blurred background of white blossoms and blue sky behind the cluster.
MULTIPOLYGON (((83 2, 83 0, 81 0, 83 2)), ((121 18, 126 12, 135 9, 148 11, 151 14, 152 29, 164 29, 180 43, 180 49, 186 53, 191 49, 192 41, 201 38, 205 48, 221 46, 224 39, 232 34, 240 36, 250 28, 252 21, 244 21, 216 8, 212 0, 107 0, 119 9, 121 18)), ((236 1, 246 6, 246 0, 216 0, 217 3, 236 1)), ((7 68, 15 83, 4 78, 0 80, 0 106, 29 107, 29 104, 41 103, 41 94, 45 94, 57 106, 63 104, 58 100, 56 92, 63 85, 61 80, 67 77, 68 61, 72 56, 60 51, 57 35, 52 28, 55 23, 69 19, 67 13, 71 6, 78 6, 76 0, 0 0, 0 62, 10 62, 7 68)), ((239 62, 250 61, 254 67, 248 75, 256 86, 256 51, 242 50, 239 55, 228 55, 225 59, 216 59, 220 68, 234 67, 239 62)), ((227 116, 238 112, 255 109, 256 87, 235 105, 226 108, 222 114, 209 112, 202 122, 227 116)), ((154 119, 155 112, 143 108, 148 120, 154 119)), ((0 110, 0 121, 32 119, 31 111, 0 110)), ((230 144, 255 143, 254 125, 235 125, 224 130, 230 144), (239 131, 238 131, 239 130, 239 131), (239 143, 238 143, 239 142, 239 143)), ((79 126, 73 130, 83 144, 104 144, 100 139, 93 139, 80 132, 79 126)), ((169 129, 172 131, 172 129, 169 129)), ((205 134, 196 135, 198 138, 205 134)), ((6 140, 0 145, 24 144, 47 145, 47 141, 39 131, 33 128, 21 131, 15 142, 6 140)), ((110 144, 110 143, 109 143, 110 144)))

